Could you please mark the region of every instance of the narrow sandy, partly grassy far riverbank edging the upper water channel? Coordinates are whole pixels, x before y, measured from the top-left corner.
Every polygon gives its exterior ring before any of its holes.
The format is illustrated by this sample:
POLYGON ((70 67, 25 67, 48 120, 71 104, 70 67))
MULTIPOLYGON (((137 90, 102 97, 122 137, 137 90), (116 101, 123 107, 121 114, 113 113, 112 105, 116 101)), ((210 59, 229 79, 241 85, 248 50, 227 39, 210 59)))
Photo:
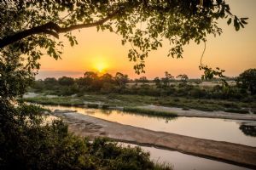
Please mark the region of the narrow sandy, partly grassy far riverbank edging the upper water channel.
MULTIPOLYGON (((56 96, 44 96, 44 97, 35 97, 30 96, 27 98, 25 96, 24 100, 26 102, 31 102, 40 105, 63 105, 63 106, 77 106, 80 108, 103 108, 110 110, 119 110, 119 111, 130 111, 140 115, 147 116, 161 116, 166 118, 172 118, 175 116, 187 116, 187 117, 207 117, 207 118, 221 118, 221 119, 231 119, 231 120, 247 120, 247 121, 256 121, 256 114, 253 112, 244 114, 236 112, 227 112, 227 111, 199 111, 189 108, 180 108, 175 106, 161 106, 161 105, 145 105, 141 101, 141 105, 108 105, 106 102, 102 101, 84 101, 79 100, 73 97, 56 97, 56 96)), ((91 96, 90 96, 91 97, 91 96)), ((197 104, 199 105, 199 104, 197 104)))

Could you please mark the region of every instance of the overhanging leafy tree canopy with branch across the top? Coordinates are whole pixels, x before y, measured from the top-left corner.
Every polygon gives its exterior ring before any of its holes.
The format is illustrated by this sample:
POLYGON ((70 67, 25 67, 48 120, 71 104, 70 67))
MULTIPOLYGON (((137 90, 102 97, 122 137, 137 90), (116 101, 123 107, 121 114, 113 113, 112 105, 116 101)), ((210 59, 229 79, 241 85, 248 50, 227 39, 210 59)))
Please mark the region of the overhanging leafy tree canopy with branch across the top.
POLYGON ((26 60, 22 66, 28 71, 39 68, 45 50, 61 57, 60 34, 77 44, 72 34, 77 29, 95 26, 119 34, 122 44, 131 43, 128 57, 140 73, 148 53, 160 48, 163 39, 171 44, 167 55, 179 58, 183 45, 206 42, 207 34, 220 35, 217 20, 229 25, 233 20, 237 31, 247 24, 247 18, 231 14, 224 0, 3 0, 0 10, 1 62, 12 58, 12 51, 26 60))

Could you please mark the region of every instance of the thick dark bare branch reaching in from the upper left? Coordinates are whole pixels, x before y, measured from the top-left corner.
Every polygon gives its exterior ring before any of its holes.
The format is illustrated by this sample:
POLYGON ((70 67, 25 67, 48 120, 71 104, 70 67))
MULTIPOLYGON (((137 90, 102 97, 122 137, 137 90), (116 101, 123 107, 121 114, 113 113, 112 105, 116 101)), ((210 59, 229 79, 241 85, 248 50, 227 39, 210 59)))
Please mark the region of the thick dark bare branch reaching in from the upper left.
POLYGON ((97 20, 92 23, 67 26, 64 28, 55 24, 54 22, 49 21, 48 23, 46 23, 42 26, 36 26, 36 27, 33 27, 33 28, 25 30, 25 31, 17 32, 12 36, 3 37, 3 39, 0 39, 0 48, 4 48, 5 46, 8 46, 11 43, 17 42, 23 38, 32 36, 34 34, 44 33, 44 34, 48 34, 50 36, 59 38, 60 33, 64 33, 67 31, 73 31, 73 30, 77 30, 77 29, 82 29, 82 28, 93 27, 93 26, 100 26, 100 25, 104 24, 106 21, 113 18, 113 16, 115 16, 117 13, 118 13, 118 11, 115 11, 112 14, 108 14, 108 16, 106 18, 104 18, 102 20, 97 20))

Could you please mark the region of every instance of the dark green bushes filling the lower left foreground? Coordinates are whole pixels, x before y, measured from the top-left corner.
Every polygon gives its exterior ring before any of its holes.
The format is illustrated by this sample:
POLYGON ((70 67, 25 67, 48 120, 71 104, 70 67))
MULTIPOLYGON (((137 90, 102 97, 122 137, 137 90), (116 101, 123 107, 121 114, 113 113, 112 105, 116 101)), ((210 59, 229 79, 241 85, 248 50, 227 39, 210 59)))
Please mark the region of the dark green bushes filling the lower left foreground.
POLYGON ((83 139, 67 124, 42 124, 42 110, 0 101, 0 169, 171 169, 155 165, 139 147, 121 147, 108 139, 83 139))

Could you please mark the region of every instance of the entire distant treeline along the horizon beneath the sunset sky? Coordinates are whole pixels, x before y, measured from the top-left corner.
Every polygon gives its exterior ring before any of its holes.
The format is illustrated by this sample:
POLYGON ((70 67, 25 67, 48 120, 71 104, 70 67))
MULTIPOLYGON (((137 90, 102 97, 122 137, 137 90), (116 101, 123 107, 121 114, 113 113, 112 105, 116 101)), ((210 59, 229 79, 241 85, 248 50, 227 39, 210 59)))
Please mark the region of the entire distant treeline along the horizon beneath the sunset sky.
MULTIPOLYGON (((255 69, 251 69, 252 72, 255 69)), ((248 70, 249 72, 251 70, 248 70)), ((245 71, 246 73, 248 71, 245 71)), ((256 74, 255 74, 256 75, 256 74)), ((194 83, 188 83, 189 77, 185 74, 173 77, 167 71, 165 77, 155 77, 149 81, 147 77, 131 80, 123 73, 117 72, 115 76, 108 73, 98 75, 96 72, 87 71, 84 77, 61 77, 55 79, 48 77, 36 81, 32 88, 36 92, 48 92, 56 95, 82 96, 85 93, 99 94, 139 94, 150 96, 176 96, 198 99, 250 99, 255 94, 256 81, 254 73, 247 75, 241 73, 236 77, 236 84, 224 86, 216 84, 215 86, 201 86, 201 80, 194 80, 194 83), (254 79, 253 79, 254 78, 254 79), (254 80, 254 82, 253 82, 254 80), (151 82, 151 83, 148 83, 151 82)))

